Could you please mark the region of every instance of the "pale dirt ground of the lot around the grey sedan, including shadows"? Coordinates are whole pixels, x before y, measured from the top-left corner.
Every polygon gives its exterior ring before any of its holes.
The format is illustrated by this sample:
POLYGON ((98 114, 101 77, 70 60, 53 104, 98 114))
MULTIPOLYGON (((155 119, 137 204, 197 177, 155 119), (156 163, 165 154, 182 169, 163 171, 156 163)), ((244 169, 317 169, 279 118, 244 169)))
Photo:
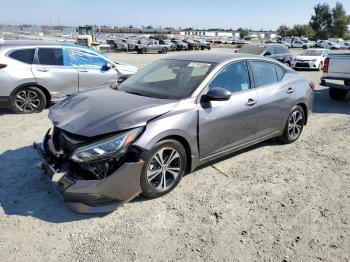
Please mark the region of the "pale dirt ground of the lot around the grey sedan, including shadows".
MULTIPOLYGON (((113 55, 139 67, 159 57, 113 55)), ((36 169, 47 113, 0 111, 1 261, 350 261, 349 97, 318 87, 296 143, 254 146, 107 215, 71 212, 36 169)))

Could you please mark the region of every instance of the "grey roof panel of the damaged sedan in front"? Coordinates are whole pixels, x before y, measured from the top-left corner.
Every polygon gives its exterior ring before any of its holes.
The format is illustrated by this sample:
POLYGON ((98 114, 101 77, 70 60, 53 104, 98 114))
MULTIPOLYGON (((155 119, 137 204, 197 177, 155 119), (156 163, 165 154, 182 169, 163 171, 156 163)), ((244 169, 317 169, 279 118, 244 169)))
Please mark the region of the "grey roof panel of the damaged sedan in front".
POLYGON ((189 53, 189 54, 176 54, 162 58, 163 60, 172 59, 172 60, 186 60, 194 62, 207 62, 207 63, 223 63, 229 60, 236 60, 241 58, 259 58, 261 56, 248 55, 248 54, 235 54, 235 53, 189 53))

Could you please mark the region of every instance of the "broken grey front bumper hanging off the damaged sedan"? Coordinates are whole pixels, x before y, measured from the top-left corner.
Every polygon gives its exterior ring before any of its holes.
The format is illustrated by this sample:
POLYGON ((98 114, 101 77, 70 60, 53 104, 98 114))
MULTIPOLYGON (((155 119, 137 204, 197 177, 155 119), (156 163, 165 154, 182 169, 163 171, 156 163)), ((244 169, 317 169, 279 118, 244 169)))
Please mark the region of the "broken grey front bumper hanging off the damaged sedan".
POLYGON ((45 154, 42 143, 34 143, 40 168, 52 181, 64 202, 78 213, 111 212, 141 193, 143 161, 124 163, 111 175, 95 180, 80 180, 57 170, 45 154))

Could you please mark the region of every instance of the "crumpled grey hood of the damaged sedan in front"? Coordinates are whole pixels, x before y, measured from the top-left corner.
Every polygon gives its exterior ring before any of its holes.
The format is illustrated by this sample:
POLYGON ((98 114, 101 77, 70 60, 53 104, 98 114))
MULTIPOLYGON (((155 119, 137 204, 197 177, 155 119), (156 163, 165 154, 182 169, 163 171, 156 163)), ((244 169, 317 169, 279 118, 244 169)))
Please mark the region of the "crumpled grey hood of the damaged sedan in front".
POLYGON ((175 100, 156 99, 110 88, 70 96, 49 110, 53 125, 86 137, 143 126, 171 111, 175 100))

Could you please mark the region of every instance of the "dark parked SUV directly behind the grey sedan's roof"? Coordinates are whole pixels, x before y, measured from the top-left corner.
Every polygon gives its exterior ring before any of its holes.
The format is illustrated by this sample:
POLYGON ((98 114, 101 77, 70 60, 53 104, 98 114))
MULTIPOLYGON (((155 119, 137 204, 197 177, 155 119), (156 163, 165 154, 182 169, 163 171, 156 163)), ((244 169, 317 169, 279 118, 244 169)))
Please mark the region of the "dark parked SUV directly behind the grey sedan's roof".
POLYGON ((293 56, 288 47, 282 44, 251 44, 245 45, 236 51, 242 54, 266 56, 276 59, 288 66, 292 65, 293 56))

